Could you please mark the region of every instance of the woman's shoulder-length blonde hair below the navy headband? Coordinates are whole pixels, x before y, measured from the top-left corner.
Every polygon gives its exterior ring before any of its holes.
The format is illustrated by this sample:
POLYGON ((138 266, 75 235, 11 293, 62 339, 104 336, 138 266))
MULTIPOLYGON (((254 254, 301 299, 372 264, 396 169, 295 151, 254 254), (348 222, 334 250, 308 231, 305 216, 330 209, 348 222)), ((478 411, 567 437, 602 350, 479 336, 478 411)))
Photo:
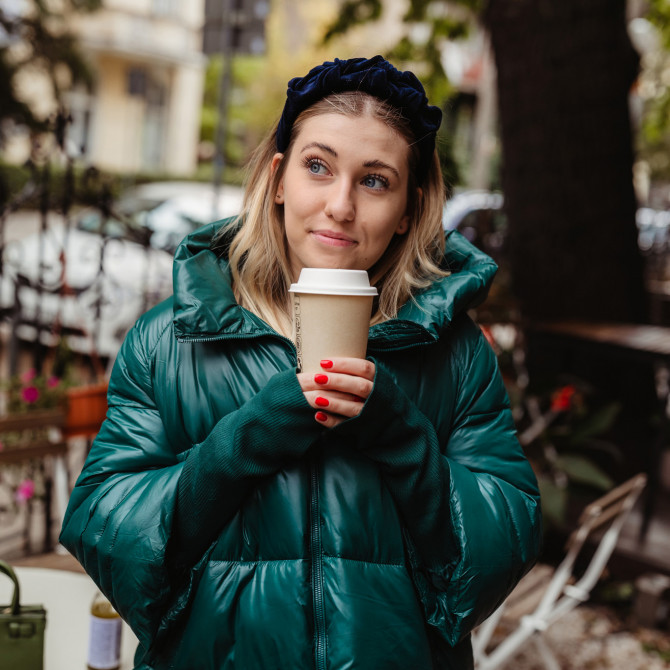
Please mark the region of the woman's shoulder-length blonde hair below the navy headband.
POLYGON ((235 298, 279 333, 291 334, 292 281, 288 245, 284 234, 283 206, 275 202, 288 157, 306 119, 326 113, 370 116, 383 121, 409 144, 407 212, 409 229, 395 235, 381 259, 369 270, 370 283, 379 291, 371 324, 397 315, 400 307, 416 291, 448 274, 440 268, 444 249, 442 208, 445 189, 437 152, 422 183, 417 183, 419 153, 409 123, 400 111, 367 93, 348 91, 330 95, 304 110, 293 124, 291 141, 274 172, 272 158, 277 153, 275 128, 253 153, 244 204, 240 217, 220 231, 220 244, 230 228, 238 227, 228 249, 235 298))

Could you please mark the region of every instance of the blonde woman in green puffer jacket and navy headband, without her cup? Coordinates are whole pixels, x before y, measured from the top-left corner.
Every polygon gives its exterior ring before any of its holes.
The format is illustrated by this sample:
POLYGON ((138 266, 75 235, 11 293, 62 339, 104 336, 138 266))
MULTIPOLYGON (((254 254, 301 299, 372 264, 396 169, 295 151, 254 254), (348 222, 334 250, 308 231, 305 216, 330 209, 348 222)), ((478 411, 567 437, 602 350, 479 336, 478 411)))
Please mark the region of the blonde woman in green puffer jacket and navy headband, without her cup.
POLYGON ((466 314, 496 268, 445 244, 440 116, 379 56, 289 82, 240 221, 184 240, 128 334, 61 540, 137 668, 470 668, 534 561, 535 478, 466 314), (303 267, 369 272, 366 360, 296 372, 303 267))

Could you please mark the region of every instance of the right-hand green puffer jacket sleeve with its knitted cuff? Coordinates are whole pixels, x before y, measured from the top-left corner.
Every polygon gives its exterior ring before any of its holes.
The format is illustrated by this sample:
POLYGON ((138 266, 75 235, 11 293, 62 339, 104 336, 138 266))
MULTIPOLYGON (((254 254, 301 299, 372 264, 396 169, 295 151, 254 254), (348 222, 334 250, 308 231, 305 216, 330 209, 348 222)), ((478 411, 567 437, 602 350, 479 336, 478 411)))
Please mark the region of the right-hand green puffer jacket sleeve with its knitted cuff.
POLYGON ((537 482, 495 354, 467 323, 445 373, 458 385, 447 444, 381 365, 362 413, 334 429, 378 463, 405 522, 426 621, 452 646, 530 569, 541 538, 537 482))

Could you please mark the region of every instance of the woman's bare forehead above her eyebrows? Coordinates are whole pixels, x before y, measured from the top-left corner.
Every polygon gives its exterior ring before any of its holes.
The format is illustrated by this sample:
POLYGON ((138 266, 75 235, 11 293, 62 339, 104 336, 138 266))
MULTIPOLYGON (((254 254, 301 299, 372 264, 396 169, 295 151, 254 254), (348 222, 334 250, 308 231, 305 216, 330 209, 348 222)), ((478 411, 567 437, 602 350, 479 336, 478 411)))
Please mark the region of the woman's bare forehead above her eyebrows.
POLYGON ((404 165, 409 156, 407 140, 383 121, 371 116, 319 114, 303 121, 294 140, 294 150, 302 152, 312 142, 327 144, 338 157, 345 154, 369 160, 392 160, 404 165))

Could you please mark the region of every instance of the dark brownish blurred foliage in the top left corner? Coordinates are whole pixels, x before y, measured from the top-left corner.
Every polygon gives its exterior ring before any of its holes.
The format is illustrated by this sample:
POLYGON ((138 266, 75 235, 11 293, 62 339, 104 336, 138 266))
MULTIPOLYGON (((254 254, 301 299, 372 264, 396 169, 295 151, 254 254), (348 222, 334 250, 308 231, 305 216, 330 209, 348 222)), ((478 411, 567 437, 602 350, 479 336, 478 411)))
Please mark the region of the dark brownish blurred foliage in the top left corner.
POLYGON ((93 72, 68 28, 73 12, 92 12, 102 0, 26 0, 19 11, 0 7, 0 146, 11 125, 45 130, 46 119, 18 93, 22 76, 44 76, 54 100, 75 86, 93 87, 93 72))

